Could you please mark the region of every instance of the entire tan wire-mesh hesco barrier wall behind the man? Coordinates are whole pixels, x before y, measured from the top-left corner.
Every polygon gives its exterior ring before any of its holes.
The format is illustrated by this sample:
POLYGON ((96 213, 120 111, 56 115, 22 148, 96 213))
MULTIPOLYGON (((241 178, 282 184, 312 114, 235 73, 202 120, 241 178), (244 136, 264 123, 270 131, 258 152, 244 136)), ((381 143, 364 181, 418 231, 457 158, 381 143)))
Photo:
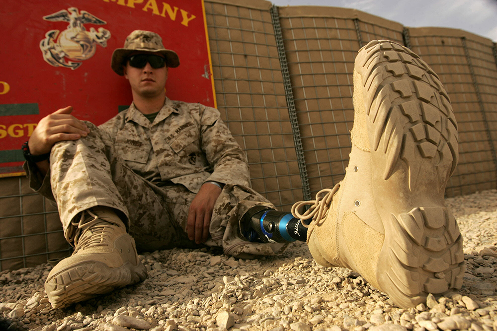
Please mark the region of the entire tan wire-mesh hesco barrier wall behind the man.
MULTIPOLYGON (((354 59, 374 39, 419 54, 451 98, 459 165, 446 195, 497 188, 497 49, 491 40, 457 29, 407 28, 335 7, 206 0, 205 10, 218 109, 247 152, 252 187, 279 208, 289 210, 345 175, 354 59)), ((0 270, 68 255, 57 209, 32 193, 25 178, 0 182, 0 270)))

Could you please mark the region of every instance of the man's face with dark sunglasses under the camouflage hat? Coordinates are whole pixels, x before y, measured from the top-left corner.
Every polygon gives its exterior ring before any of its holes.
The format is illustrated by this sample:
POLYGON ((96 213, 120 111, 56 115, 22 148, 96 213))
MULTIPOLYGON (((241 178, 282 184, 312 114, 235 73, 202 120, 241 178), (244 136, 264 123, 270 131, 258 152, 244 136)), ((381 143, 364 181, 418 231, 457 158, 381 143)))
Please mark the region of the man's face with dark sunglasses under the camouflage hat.
MULTIPOLYGON (((137 53, 131 56, 142 54, 150 55, 150 53, 137 53)), ((124 77, 129 80, 133 93, 144 98, 151 98, 165 93, 167 66, 154 68, 147 62, 145 66, 139 68, 130 65, 130 58, 128 58, 124 67, 124 77)))

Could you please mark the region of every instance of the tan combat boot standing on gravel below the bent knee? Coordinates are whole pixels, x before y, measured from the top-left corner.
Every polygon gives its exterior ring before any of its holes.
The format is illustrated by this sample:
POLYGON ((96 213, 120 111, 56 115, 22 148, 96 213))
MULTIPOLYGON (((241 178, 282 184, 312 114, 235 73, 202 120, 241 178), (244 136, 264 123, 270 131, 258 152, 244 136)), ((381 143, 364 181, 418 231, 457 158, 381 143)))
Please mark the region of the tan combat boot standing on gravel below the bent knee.
POLYGON ((72 226, 75 251, 50 271, 45 282, 52 307, 63 308, 147 278, 134 239, 112 209, 85 210, 72 226))

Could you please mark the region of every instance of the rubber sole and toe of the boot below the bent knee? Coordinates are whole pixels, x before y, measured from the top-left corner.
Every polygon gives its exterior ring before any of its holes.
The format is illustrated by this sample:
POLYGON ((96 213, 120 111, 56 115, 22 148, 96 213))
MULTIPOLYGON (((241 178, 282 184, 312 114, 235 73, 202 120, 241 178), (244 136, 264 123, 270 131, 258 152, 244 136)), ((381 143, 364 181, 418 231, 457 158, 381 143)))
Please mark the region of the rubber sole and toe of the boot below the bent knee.
POLYGON ((45 282, 45 291, 53 308, 89 300, 100 294, 127 285, 135 284, 147 277, 143 264, 124 263, 117 268, 98 261, 84 261, 71 265, 53 275, 45 282))

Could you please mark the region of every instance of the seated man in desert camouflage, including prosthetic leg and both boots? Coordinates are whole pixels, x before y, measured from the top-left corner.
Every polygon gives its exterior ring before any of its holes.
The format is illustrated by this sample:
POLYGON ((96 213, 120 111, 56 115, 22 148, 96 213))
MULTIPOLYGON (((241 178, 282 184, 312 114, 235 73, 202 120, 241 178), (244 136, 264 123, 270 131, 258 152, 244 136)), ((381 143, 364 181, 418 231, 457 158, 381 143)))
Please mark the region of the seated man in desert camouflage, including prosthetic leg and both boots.
POLYGON ((437 103, 433 113, 432 105, 409 99, 389 111, 383 101, 394 100, 398 90, 402 98, 413 95, 407 89, 421 89, 427 100, 430 93, 436 100, 446 94, 412 52, 376 43, 361 50, 362 71, 354 74, 356 114, 347 175, 323 199, 296 204, 293 217, 275 211, 249 188, 245 155, 217 110, 166 98, 168 68, 179 65, 177 55, 157 34, 132 32, 124 48, 114 51, 111 65, 129 80, 130 108, 99 128, 74 118, 71 107, 60 109, 40 121, 23 147, 31 187, 56 200, 66 239, 75 246, 45 283, 52 306, 143 280, 135 240, 142 250, 204 243, 249 257, 274 255, 284 243, 307 238, 317 262, 359 271, 405 307, 429 292, 460 286, 461 239, 443 207, 457 158, 452 110, 448 102, 443 109, 437 103), (408 56, 416 57, 415 66, 384 61, 408 56), (373 67, 373 73, 365 69, 373 67), (411 81, 423 75, 428 87, 411 81), (392 89, 381 90, 383 77, 392 80, 392 89), (401 78, 405 82, 399 83, 401 78), (403 90, 404 83, 414 85, 403 90), (442 133, 437 138, 428 126, 442 133), (414 142, 404 138, 409 132, 414 142), (433 141, 438 141, 434 151, 425 144, 433 141), (301 214, 304 204, 313 206, 301 214), (300 218, 312 218, 309 234, 300 218))

